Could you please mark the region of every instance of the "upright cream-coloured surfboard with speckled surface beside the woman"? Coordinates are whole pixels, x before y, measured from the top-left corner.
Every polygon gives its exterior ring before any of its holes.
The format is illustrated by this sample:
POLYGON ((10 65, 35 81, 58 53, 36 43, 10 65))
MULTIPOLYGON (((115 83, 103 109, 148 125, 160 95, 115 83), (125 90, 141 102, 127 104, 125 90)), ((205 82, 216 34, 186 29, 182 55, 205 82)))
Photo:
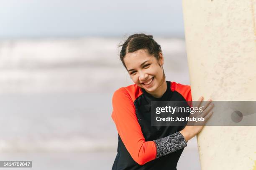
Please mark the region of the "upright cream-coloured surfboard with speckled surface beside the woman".
MULTIPOLYGON (((256 101, 256 0, 182 6, 193 100, 256 101)), ((256 170, 256 126, 205 126, 197 143, 202 170, 256 170)))

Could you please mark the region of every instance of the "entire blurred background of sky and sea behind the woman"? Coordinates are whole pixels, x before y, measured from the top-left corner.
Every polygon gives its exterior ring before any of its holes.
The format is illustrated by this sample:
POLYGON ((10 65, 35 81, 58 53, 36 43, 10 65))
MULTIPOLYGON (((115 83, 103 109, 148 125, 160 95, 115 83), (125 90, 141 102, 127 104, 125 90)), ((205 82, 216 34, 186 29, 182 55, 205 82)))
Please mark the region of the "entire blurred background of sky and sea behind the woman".
MULTIPOLYGON (((0 161, 32 161, 24 170, 111 169, 112 95, 133 83, 118 45, 132 33, 154 35, 166 80, 189 85, 181 2, 1 4, 0 161)), ((200 170, 196 138, 177 169, 200 170)))

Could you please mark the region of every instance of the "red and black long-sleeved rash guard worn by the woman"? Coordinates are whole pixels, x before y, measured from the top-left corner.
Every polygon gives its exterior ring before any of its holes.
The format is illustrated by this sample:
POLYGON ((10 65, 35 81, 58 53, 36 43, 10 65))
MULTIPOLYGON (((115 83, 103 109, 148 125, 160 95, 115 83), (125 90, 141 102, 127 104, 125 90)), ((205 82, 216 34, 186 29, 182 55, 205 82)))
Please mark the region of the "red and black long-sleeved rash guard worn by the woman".
POLYGON ((166 83, 166 92, 160 98, 135 84, 115 91, 111 116, 118 130, 118 153, 112 170, 176 170, 186 146, 179 133, 184 126, 151 126, 151 101, 192 101, 192 97, 190 86, 166 83), (163 154, 175 147, 178 150, 163 154))

